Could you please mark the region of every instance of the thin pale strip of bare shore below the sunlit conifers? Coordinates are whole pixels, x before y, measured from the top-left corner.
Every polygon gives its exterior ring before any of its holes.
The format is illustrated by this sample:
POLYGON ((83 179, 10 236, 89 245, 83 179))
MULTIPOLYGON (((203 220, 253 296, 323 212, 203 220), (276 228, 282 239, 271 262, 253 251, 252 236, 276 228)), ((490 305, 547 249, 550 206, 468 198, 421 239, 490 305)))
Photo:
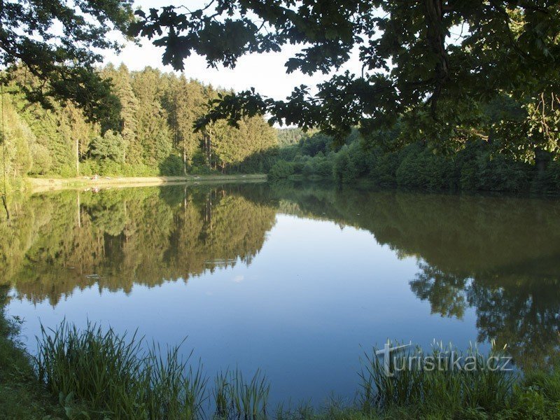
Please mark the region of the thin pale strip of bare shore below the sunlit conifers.
POLYGON ((265 182, 266 174, 234 174, 234 175, 188 175, 188 176, 99 176, 92 179, 89 176, 76 178, 27 178, 27 183, 33 193, 54 190, 68 190, 74 188, 103 188, 103 187, 145 187, 162 185, 181 185, 198 183, 228 182, 265 182))

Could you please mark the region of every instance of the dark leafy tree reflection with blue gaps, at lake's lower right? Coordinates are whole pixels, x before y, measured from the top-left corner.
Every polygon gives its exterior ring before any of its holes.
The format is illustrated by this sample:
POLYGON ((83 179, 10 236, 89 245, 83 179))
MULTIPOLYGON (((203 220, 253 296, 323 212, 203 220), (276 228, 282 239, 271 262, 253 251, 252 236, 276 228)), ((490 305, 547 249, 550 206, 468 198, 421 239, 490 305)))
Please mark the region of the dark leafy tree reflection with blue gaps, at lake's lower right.
MULTIPOLYGON (((471 280, 444 274, 420 263, 421 271, 410 282, 433 313, 462 318, 465 309, 477 314, 478 340, 507 344, 519 365, 540 365, 560 357, 560 283, 526 274, 489 273, 471 280), (461 284, 464 286, 461 287, 461 284)), ((560 269, 560 267, 559 267, 560 269)))

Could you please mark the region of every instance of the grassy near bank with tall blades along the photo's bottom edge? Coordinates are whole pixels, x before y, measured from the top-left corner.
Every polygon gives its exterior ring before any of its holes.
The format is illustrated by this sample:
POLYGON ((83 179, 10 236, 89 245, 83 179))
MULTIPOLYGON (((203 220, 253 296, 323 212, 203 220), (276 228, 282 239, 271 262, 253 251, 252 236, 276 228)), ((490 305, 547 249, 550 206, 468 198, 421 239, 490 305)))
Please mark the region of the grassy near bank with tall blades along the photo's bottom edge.
MULTIPOLYGON (((145 346, 134 335, 92 324, 43 330, 38 354, 30 358, 14 341, 18 323, 2 316, 0 326, 2 419, 505 420, 560 413, 560 370, 520 377, 489 369, 498 366, 491 356, 499 352, 464 353, 477 370, 398 370, 409 356, 424 354, 412 349, 391 359, 393 377, 384 374, 382 359, 366 354, 353 401, 271 407, 271 384, 260 371, 206 377, 200 363, 179 356, 178 347, 145 346)), ((427 355, 445 365, 449 350, 435 346, 427 355)))

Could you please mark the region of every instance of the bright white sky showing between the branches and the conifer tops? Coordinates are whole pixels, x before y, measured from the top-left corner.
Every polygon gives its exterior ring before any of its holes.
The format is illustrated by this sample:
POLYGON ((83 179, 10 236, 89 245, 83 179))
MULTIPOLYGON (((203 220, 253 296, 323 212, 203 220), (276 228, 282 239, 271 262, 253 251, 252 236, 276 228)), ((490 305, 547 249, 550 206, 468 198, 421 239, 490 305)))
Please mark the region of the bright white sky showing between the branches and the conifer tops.
MULTIPOLYGON (((160 8, 162 6, 188 6, 190 10, 204 6, 206 2, 200 0, 139 0, 134 6, 144 10, 148 8, 160 8)), ((185 61, 185 76, 211 84, 215 87, 233 88, 237 92, 255 87, 255 90, 267 97, 274 99, 284 99, 292 92, 293 87, 299 85, 314 86, 326 80, 328 75, 318 73, 314 76, 306 76, 295 71, 286 74, 284 63, 288 58, 293 57, 299 48, 287 45, 281 52, 270 52, 265 54, 253 54, 241 57, 235 69, 225 69, 219 66, 218 69, 209 69, 203 57, 192 55, 185 61)), ((143 69, 145 66, 152 66, 162 71, 173 71, 172 66, 163 66, 161 48, 156 48, 150 41, 144 39, 141 45, 126 43, 125 48, 116 55, 115 52, 104 52, 104 64, 124 63, 130 70, 143 69)), ((353 73, 360 71, 358 57, 354 54, 350 62, 340 71, 350 70, 353 73)))

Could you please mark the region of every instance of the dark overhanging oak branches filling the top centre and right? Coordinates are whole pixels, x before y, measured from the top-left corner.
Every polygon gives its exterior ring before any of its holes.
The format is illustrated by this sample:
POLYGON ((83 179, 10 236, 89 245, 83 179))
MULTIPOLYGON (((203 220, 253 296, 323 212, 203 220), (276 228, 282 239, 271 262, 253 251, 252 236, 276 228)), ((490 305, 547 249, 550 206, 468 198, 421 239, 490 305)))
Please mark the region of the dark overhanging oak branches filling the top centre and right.
POLYGON ((209 66, 235 67, 247 53, 295 44, 288 73, 334 71, 316 92, 297 86, 285 100, 253 90, 224 95, 202 123, 268 113, 273 123, 342 135, 413 113, 423 124, 456 127, 472 102, 557 92, 559 1, 214 0, 137 15, 132 34, 164 47, 163 62, 175 69, 193 52, 209 66), (353 51, 361 73, 336 72, 353 51))

